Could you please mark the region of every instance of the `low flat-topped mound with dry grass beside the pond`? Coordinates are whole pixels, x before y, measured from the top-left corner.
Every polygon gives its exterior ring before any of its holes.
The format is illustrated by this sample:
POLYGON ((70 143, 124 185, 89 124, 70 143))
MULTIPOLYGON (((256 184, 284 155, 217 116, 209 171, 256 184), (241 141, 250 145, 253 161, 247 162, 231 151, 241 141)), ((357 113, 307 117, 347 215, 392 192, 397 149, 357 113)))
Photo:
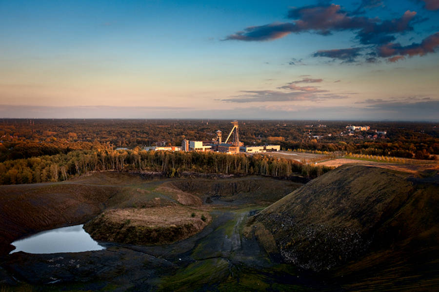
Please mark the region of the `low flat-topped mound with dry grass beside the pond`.
POLYGON ((182 206, 108 210, 87 222, 94 239, 123 244, 169 244, 199 233, 212 217, 182 206))

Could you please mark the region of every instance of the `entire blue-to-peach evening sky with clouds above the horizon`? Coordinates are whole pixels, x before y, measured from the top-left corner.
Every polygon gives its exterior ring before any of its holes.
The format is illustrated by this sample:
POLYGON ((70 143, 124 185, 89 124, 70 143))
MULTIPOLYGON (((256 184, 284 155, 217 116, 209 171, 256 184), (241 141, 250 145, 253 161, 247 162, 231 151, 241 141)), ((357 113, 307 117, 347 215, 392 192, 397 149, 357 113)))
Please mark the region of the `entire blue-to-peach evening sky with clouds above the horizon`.
POLYGON ((439 0, 0 0, 0 117, 439 120, 439 0))

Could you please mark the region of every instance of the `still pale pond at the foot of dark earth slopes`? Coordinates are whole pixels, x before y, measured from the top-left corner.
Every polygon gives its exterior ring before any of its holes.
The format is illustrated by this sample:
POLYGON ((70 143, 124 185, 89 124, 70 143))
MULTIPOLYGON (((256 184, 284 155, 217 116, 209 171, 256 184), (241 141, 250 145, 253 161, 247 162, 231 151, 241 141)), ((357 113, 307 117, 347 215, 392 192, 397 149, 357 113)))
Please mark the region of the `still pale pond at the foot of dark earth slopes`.
POLYGON ((11 253, 79 253, 105 249, 82 229, 81 225, 43 231, 14 241, 11 253))

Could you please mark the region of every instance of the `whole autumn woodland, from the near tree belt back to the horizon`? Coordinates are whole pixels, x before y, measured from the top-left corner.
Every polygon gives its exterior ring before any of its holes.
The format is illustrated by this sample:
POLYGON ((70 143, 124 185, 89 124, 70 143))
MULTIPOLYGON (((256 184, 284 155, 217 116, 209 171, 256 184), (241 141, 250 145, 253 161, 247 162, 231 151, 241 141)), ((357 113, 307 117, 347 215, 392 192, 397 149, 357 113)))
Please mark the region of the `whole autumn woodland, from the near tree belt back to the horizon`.
MULTIPOLYGON (((437 159, 437 123, 358 121, 239 121, 245 145, 280 144, 282 150, 324 151, 437 159), (348 135, 347 125, 370 130, 348 135), (377 133, 386 131, 385 135, 377 133)), ((181 145, 181 140, 226 137, 229 120, 2 119, 0 182, 59 181, 89 171, 138 170, 179 175, 184 171, 310 177, 325 169, 266 156, 229 156, 142 151, 144 146, 181 145), (118 150, 118 147, 129 150, 118 150)))

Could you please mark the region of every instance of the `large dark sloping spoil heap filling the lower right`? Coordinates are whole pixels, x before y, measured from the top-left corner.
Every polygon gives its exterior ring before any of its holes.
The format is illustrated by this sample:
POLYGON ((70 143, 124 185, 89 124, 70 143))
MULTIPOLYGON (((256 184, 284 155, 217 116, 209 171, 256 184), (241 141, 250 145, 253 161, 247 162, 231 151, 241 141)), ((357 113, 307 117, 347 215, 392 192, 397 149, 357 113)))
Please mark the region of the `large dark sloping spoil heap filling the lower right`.
MULTIPOLYGON (((378 266, 393 272, 403 267, 412 276, 430 269, 437 282, 438 194, 438 175, 416 178, 344 165, 255 215, 246 233, 256 235, 268 253, 304 269, 348 264, 339 271, 362 270, 362 276, 377 273, 378 266)), ((387 271, 404 274, 393 272, 387 271)))

